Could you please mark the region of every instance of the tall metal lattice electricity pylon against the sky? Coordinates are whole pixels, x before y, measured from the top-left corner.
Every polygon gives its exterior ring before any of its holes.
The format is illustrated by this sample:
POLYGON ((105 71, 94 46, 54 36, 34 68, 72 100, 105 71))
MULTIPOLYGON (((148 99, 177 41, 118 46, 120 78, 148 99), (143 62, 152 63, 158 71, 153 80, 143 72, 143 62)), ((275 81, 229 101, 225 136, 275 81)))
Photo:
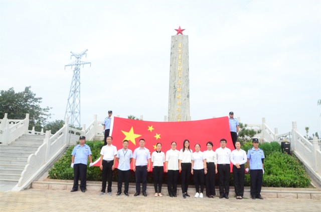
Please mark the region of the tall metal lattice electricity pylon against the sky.
POLYGON ((71 68, 74 66, 74 75, 72 77, 71 81, 71 86, 70 86, 70 91, 69 91, 69 97, 68 97, 68 102, 67 102, 67 107, 66 107, 66 113, 65 113, 65 119, 66 117, 69 118, 69 123, 75 127, 81 127, 80 125, 80 66, 86 64, 90 64, 89 62, 84 62, 81 61, 81 57, 83 55, 86 55, 87 57, 87 52, 88 50, 86 49, 82 53, 75 54, 73 52, 71 53, 70 59, 72 56, 76 58, 76 61, 69 63, 66 66, 71 66, 71 68))

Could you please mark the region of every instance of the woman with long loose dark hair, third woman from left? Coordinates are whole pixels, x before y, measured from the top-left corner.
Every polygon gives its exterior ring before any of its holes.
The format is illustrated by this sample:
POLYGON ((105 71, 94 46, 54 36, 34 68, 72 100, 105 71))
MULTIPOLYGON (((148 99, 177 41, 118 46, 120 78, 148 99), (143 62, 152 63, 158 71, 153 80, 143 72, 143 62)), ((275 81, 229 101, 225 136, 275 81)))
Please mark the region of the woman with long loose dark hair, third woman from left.
POLYGON ((192 153, 193 151, 190 149, 190 141, 185 139, 183 142, 183 149, 181 149, 179 154, 179 169, 182 176, 183 198, 190 197, 187 193, 187 189, 189 188, 191 177, 192 153))

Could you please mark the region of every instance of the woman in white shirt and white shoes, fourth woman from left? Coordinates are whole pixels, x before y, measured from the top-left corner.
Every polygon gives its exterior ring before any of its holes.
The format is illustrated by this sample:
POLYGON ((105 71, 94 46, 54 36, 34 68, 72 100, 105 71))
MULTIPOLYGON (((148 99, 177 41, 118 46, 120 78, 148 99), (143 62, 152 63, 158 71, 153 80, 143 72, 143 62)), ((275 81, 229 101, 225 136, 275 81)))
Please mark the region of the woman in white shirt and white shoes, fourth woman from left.
POLYGON ((204 190, 204 174, 207 173, 205 154, 200 151, 201 145, 195 144, 195 152, 192 154, 192 169, 191 173, 195 181, 196 194, 194 197, 203 198, 204 190), (201 185, 201 192, 200 192, 201 185))

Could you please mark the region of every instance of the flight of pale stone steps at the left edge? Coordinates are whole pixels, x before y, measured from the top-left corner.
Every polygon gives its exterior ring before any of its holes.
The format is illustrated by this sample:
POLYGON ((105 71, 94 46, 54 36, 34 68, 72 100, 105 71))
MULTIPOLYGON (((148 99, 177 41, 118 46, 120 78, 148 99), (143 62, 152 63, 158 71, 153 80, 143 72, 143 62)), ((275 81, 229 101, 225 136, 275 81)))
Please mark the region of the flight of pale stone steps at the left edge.
POLYGON ((24 134, 9 145, 0 144, 0 181, 19 181, 30 154, 44 142, 45 135, 24 134))

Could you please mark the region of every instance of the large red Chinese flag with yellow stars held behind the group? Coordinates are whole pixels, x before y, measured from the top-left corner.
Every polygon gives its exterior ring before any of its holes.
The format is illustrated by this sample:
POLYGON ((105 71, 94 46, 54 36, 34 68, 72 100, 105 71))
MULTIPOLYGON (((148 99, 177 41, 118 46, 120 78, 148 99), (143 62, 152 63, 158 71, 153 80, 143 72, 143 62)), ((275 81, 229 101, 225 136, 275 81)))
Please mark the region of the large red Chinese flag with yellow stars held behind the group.
MULTIPOLYGON (((177 150, 183 148, 185 139, 190 141, 190 148, 195 152, 195 144, 201 145, 201 151, 206 151, 206 143, 212 141, 213 150, 219 148, 220 140, 227 140, 226 147, 234 150, 232 143, 228 117, 212 118, 198 121, 182 122, 155 122, 140 121, 113 117, 110 134, 112 136, 112 145, 117 150, 122 148, 122 141, 128 140, 128 149, 134 150, 139 147, 139 139, 145 140, 145 147, 150 155, 156 150, 156 143, 162 143, 162 151, 166 153, 171 149, 171 143, 176 141, 177 150)), ((95 166, 100 165, 100 158, 94 162, 95 166)), ((118 163, 116 162, 116 167, 118 163)), ((150 164, 150 168, 151 168, 150 164)), ((130 164, 132 169, 132 163, 130 164)), ((232 170, 231 170, 232 171, 232 170)))

